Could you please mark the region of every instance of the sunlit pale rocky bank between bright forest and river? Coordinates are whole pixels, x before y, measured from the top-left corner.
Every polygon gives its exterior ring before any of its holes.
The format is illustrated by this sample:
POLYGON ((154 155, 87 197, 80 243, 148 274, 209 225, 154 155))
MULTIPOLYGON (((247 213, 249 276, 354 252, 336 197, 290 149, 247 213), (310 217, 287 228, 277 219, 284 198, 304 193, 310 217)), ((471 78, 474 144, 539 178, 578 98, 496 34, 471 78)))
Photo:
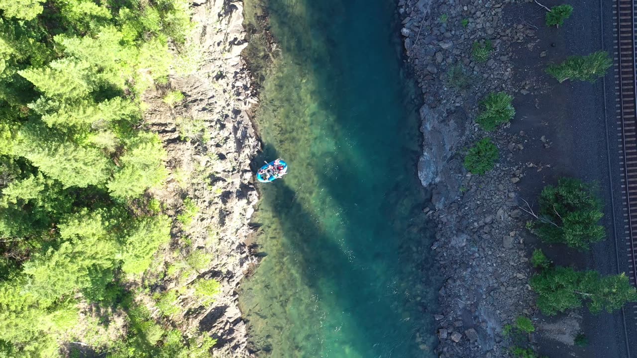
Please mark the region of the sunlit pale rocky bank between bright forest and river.
POLYGON ((180 313, 173 324, 183 332, 208 332, 217 340, 215 356, 248 357, 236 289, 255 262, 244 241, 257 202, 250 161, 260 145, 247 115, 257 99, 241 58, 247 46, 243 4, 196 0, 193 8, 195 29, 189 41, 201 54, 199 66, 190 75, 172 76, 145 98, 145 124, 168 152, 169 180, 155 196, 168 215, 182 222, 179 215, 197 208, 192 222, 173 227, 171 247, 162 253, 166 278, 150 294, 179 289, 197 278, 218 280, 221 293, 212 304, 202 306, 180 290, 180 313), (166 103, 166 95, 175 91, 182 92, 183 100, 166 103), (195 265, 192 257, 204 257, 199 260, 204 263, 195 265), (196 273, 171 276, 183 258, 196 273))

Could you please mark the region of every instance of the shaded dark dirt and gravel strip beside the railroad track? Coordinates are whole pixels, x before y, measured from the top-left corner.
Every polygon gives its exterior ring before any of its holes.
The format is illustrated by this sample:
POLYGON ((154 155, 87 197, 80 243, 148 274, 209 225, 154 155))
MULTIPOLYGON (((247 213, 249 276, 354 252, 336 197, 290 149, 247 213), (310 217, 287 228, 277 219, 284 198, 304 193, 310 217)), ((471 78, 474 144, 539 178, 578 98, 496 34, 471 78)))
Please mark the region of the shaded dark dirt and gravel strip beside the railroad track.
MULTIPOLYGON (((546 6, 559 1, 542 1, 546 6)), ((544 10, 535 3, 508 6, 505 17, 513 22, 524 22, 536 29, 536 41, 514 48, 516 69, 514 81, 520 92, 515 94, 517 115, 508 131, 526 135, 524 150, 514 154, 520 162, 543 164, 542 169, 528 168, 519 183, 520 195, 533 202, 541 188, 557 182, 561 176, 575 176, 587 182, 596 182, 599 194, 605 201, 605 217, 608 239, 594 245, 590 252, 576 252, 561 245, 551 247, 527 237, 528 247, 541 247, 557 264, 573 265, 577 269, 596 269, 604 274, 628 271, 624 252, 622 226, 615 218, 622 212, 619 157, 615 150, 617 138, 615 125, 615 90, 612 69, 604 80, 596 83, 558 83, 544 73, 551 62, 561 62, 567 55, 585 55, 598 50, 612 54, 612 2, 583 0, 573 4, 575 10, 560 29, 547 28, 544 10), (522 19, 522 21, 520 21, 522 19), (609 145, 610 143, 610 151, 609 145), (619 265, 616 247, 619 247, 619 265)), ((590 315, 582 310, 580 318, 561 315, 541 323, 538 341, 541 354, 550 357, 629 357, 629 351, 637 352, 637 342, 628 342, 633 336, 635 320, 632 310, 626 310, 628 332, 624 329, 622 311, 610 314, 590 315), (589 338, 586 348, 573 348, 572 341, 564 338, 564 331, 575 325, 589 338), (633 347, 634 346, 634 347, 633 347)), ((576 328, 575 328, 576 329, 576 328)))

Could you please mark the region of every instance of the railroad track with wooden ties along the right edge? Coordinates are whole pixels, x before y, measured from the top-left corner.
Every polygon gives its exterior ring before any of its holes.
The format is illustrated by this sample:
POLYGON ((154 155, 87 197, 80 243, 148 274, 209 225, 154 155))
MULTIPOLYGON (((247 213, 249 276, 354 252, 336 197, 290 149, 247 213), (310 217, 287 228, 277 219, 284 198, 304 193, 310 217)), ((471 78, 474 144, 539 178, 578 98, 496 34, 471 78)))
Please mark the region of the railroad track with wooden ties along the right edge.
MULTIPOLYGON (((637 91, 636 85, 636 37, 635 0, 616 0, 613 6, 615 19, 615 104, 626 255, 629 262, 629 278, 637 286, 637 91)), ((610 148, 609 148, 610 149, 610 148)), ((618 243, 619 244, 619 243, 618 243)), ((626 318, 637 322, 637 304, 633 304, 626 318)))

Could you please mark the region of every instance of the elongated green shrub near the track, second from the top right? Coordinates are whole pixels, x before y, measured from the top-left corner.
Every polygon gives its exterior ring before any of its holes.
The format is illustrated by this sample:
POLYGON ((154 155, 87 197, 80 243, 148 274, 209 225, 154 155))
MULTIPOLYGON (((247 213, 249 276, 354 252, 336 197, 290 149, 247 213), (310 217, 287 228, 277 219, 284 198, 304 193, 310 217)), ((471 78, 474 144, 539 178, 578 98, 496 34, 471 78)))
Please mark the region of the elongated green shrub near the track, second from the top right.
POLYGON ((606 75, 613 61, 608 52, 598 51, 587 56, 570 56, 561 64, 551 64, 546 69, 560 83, 566 80, 595 82, 606 75))

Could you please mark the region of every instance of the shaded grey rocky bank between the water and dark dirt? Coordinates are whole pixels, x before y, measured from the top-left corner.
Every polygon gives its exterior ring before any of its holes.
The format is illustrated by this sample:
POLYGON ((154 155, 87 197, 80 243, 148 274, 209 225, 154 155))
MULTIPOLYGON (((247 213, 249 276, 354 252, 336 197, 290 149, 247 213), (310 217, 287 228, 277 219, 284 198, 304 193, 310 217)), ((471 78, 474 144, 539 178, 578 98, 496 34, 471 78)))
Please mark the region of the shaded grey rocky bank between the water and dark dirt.
POLYGON ((473 122, 489 92, 519 92, 512 83, 512 44, 529 42, 534 29, 524 18, 505 22, 506 6, 517 4, 399 1, 407 61, 424 97, 419 176, 433 192, 425 211, 437 227, 432 249, 444 278, 442 311, 434 316, 441 357, 509 357, 503 326, 534 314, 516 183, 541 167, 513 161, 524 148, 524 132, 487 133, 473 122), (492 44, 488 61, 474 61, 475 43, 492 44), (486 175, 471 175, 462 168, 464 150, 485 136, 499 148, 499 163, 486 175))

